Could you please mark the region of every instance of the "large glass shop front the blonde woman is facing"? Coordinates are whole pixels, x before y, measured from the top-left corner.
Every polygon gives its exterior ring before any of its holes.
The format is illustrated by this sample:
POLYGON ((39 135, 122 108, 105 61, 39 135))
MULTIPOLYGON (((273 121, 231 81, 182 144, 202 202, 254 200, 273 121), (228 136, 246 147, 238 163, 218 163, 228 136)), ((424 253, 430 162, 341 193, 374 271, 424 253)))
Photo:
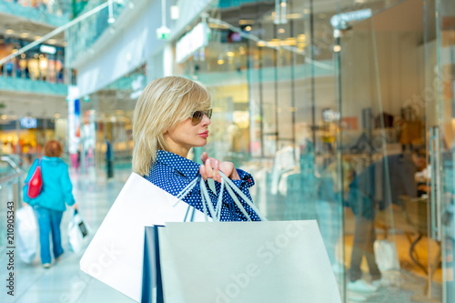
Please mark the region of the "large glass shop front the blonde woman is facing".
POLYGON ((250 172, 270 219, 317 219, 346 301, 455 298, 454 16, 446 0, 219 1, 172 41, 173 74, 213 97, 195 159, 250 172), (351 283, 375 278, 371 258, 380 298, 351 283))

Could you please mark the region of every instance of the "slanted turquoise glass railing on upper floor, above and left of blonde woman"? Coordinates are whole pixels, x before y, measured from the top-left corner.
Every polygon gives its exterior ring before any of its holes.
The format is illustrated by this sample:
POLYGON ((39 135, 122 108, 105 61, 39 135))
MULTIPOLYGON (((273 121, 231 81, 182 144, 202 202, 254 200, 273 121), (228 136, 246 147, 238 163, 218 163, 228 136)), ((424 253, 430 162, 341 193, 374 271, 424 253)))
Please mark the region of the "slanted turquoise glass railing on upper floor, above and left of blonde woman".
MULTIPOLYGON (((106 1, 94 0, 90 1, 84 10, 79 15, 84 15, 98 5, 102 5, 106 1)), ((129 0, 116 0, 112 4, 112 17, 115 20, 118 15, 123 12, 129 0)), ((113 21, 111 20, 111 21, 113 21)), ((86 19, 71 26, 66 31, 66 57, 70 60, 70 65, 86 56, 86 52, 95 44, 98 38, 105 33, 109 28, 109 8, 106 6, 94 15, 86 17, 86 19)))

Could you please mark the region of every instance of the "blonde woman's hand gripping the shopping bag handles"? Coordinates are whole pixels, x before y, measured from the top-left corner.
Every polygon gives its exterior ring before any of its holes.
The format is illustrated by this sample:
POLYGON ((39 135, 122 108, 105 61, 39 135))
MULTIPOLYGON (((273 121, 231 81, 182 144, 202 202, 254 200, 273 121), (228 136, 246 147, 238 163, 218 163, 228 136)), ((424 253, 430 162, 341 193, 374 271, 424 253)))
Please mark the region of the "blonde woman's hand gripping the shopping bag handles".
POLYGON ((234 167, 234 163, 220 162, 216 158, 208 157, 206 152, 202 154, 200 159, 204 164, 199 167, 199 173, 204 180, 207 180, 207 178, 213 178, 215 181, 221 182, 221 176, 219 175, 220 170, 230 179, 240 179, 237 169, 234 167))

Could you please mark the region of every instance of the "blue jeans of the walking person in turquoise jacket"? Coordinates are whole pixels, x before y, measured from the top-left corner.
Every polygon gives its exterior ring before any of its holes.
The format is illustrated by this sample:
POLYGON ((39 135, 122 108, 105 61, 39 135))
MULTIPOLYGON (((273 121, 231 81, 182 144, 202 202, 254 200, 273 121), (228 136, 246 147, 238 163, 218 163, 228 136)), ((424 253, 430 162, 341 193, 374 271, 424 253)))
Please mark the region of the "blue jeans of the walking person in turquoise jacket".
POLYGON ((35 210, 38 217, 41 263, 51 263, 49 234, 52 233, 54 258, 58 258, 63 254, 62 237, 60 234, 60 223, 62 222, 63 212, 45 207, 35 207, 35 210))

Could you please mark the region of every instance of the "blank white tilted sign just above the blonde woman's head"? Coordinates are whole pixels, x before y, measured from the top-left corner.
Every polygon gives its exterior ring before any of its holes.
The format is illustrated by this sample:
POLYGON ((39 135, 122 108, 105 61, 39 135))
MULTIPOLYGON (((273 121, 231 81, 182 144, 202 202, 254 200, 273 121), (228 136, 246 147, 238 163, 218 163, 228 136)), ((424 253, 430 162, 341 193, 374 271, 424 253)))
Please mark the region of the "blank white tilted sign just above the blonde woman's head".
POLYGON ((176 59, 177 63, 182 63, 187 60, 199 48, 205 47, 208 44, 208 35, 210 28, 206 23, 199 23, 187 35, 184 35, 178 40, 176 45, 176 59))

